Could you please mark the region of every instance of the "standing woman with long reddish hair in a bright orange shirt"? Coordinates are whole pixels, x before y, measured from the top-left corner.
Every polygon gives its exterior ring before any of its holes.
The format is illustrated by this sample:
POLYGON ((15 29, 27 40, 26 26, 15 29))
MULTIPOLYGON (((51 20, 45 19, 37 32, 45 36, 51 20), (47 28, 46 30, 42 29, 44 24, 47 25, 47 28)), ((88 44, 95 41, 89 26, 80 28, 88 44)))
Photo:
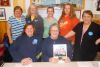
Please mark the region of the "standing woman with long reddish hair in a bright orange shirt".
MULTIPOLYGON (((76 17, 74 8, 72 4, 67 3, 63 7, 62 15, 58 21, 60 26, 60 35, 65 36, 68 32, 70 32, 77 24, 79 20, 76 17)), ((72 36, 68 38, 72 44, 74 44, 75 37, 72 36)))

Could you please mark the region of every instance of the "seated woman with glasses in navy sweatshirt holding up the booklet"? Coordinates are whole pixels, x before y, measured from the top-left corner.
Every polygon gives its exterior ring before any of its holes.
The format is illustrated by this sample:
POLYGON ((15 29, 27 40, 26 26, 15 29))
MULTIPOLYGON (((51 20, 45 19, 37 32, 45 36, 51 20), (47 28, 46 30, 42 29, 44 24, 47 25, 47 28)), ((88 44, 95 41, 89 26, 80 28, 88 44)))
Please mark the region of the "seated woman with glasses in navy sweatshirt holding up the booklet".
POLYGON ((67 45, 67 57, 65 62, 72 59, 72 46, 69 41, 64 37, 59 36, 59 27, 57 24, 50 26, 50 36, 46 38, 42 44, 42 61, 44 62, 59 62, 59 58, 53 57, 53 45, 54 44, 66 44, 67 45))

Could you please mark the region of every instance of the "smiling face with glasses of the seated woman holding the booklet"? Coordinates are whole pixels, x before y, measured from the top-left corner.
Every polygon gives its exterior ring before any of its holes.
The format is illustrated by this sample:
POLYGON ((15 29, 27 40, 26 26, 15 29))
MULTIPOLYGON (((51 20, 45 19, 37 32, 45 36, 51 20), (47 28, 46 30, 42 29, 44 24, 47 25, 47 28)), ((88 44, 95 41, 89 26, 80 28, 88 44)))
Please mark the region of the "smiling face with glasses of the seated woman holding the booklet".
POLYGON ((51 27, 50 36, 51 36, 52 39, 57 39, 58 38, 59 29, 58 29, 58 27, 56 25, 51 27))

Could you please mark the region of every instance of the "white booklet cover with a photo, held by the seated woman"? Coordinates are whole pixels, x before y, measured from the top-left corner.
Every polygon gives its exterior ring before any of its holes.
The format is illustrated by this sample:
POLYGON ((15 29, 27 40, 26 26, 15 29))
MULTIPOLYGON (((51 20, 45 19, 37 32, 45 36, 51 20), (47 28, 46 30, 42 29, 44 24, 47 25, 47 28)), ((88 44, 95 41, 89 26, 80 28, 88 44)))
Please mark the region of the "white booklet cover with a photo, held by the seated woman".
POLYGON ((64 60, 67 57, 67 45, 53 44, 53 56, 59 60, 64 60))

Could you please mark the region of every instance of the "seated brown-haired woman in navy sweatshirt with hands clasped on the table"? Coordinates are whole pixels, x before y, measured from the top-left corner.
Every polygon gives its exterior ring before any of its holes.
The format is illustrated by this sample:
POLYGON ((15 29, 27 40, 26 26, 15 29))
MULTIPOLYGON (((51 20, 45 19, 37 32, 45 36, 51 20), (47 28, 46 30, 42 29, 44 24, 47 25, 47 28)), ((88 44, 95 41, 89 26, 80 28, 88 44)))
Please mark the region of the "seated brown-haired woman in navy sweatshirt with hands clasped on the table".
POLYGON ((14 62, 28 64, 37 61, 36 55, 40 52, 39 39, 34 36, 35 28, 32 23, 26 24, 24 32, 19 36, 14 45, 10 47, 10 53, 14 62))

